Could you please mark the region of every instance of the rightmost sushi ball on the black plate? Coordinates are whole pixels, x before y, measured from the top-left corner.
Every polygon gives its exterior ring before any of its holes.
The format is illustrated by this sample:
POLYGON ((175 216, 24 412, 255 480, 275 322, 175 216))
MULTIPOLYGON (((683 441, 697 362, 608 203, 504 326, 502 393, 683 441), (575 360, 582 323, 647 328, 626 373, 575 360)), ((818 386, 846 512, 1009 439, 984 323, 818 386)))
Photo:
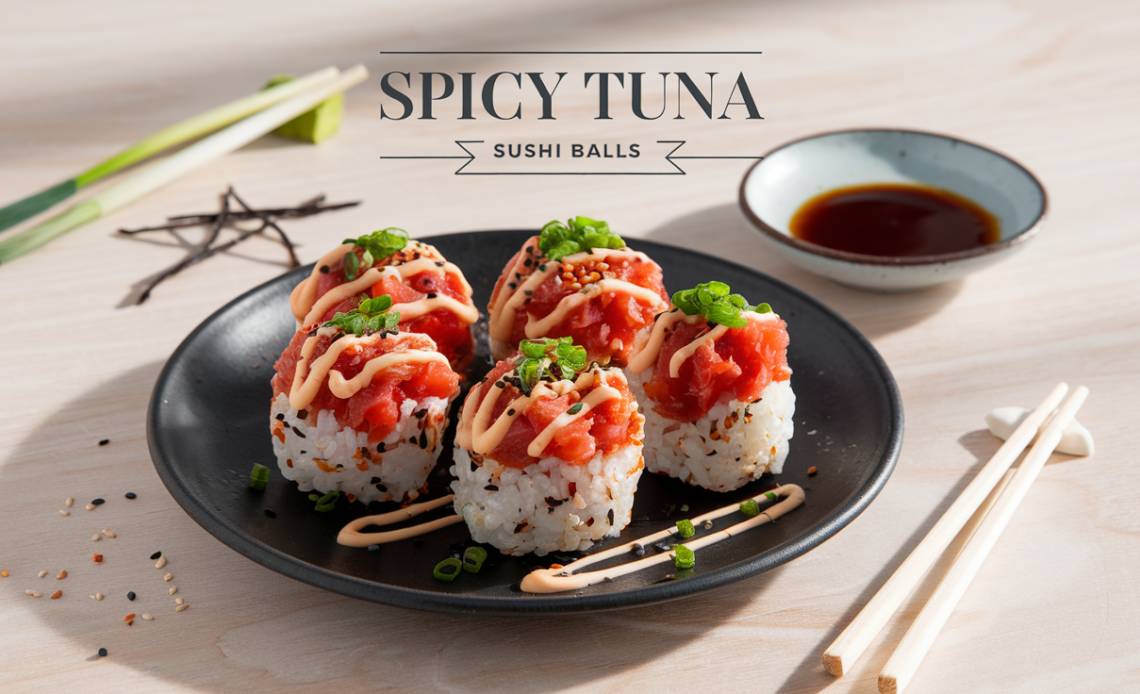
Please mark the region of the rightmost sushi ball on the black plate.
POLYGON ((646 468, 714 491, 779 474, 796 413, 787 325, 723 283, 673 301, 638 335, 628 367, 645 415, 646 468))

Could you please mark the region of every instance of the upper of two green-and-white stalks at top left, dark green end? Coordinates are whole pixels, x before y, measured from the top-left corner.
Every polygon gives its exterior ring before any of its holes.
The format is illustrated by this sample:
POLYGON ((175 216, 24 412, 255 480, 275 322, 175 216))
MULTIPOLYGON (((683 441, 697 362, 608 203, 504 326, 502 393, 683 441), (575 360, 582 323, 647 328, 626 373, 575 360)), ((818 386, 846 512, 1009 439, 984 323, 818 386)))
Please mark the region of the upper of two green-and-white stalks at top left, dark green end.
POLYGON ((0 207, 0 231, 62 203, 72 195, 75 195, 76 190, 105 179, 116 171, 122 171, 131 164, 137 164, 174 145, 181 145, 207 132, 241 121, 250 114, 272 106, 278 101, 284 101, 309 89, 314 84, 332 79, 336 74, 337 71, 335 67, 326 67, 298 80, 275 82, 272 89, 266 89, 264 91, 230 101, 223 106, 211 108, 205 113, 199 113, 180 123, 164 128, 120 152, 109 160, 96 164, 75 178, 67 179, 35 195, 30 195, 7 207, 0 207))

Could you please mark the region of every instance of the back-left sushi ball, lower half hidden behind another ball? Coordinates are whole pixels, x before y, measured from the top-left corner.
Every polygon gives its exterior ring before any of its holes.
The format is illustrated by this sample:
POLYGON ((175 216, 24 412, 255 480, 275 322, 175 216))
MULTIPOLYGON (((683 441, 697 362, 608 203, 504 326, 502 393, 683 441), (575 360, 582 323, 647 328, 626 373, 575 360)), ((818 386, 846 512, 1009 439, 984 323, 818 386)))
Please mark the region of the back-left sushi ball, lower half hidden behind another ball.
POLYGON ((471 325, 479 320, 471 285, 434 246, 408 238, 402 229, 345 239, 293 289, 290 308, 303 327, 385 294, 400 313, 401 330, 431 336, 453 368, 470 359, 471 325))

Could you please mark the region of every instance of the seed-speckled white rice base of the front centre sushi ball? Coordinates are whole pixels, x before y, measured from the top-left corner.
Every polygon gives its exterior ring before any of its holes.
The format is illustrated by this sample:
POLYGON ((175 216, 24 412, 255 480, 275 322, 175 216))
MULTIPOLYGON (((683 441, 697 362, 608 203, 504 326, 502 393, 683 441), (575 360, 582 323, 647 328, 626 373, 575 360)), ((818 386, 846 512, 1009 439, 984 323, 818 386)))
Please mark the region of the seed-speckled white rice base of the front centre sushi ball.
POLYGON ((538 556, 617 537, 629 524, 643 467, 640 441, 610 455, 598 451, 584 465, 544 458, 518 470, 488 457, 477 460, 481 464, 456 447, 455 512, 472 539, 503 554, 538 556))

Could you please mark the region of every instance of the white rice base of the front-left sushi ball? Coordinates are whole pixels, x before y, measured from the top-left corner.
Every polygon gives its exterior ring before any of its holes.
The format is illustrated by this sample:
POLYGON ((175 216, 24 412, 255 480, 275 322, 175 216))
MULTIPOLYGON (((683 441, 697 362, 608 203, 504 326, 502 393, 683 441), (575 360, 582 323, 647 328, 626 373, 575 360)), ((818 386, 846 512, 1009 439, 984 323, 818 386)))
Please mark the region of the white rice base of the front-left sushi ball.
POLYGON ((439 460, 448 406, 442 398, 405 400, 381 452, 368 443, 367 432, 342 428, 332 410, 307 413, 307 419, 301 419, 282 393, 270 410, 277 466, 301 491, 335 490, 365 504, 410 501, 420 496, 439 460), (278 421, 278 415, 285 418, 278 421))

